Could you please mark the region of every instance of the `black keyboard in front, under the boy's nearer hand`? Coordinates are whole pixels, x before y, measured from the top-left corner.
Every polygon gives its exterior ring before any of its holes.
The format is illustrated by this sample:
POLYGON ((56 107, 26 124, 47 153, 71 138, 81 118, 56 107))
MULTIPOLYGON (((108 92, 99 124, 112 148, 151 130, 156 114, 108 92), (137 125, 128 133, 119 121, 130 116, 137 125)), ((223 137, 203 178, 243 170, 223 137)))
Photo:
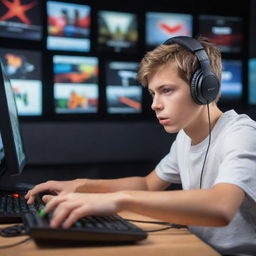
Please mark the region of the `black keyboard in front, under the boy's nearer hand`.
POLYGON ((147 232, 126 221, 118 215, 86 216, 79 219, 72 227, 51 228, 51 215, 40 217, 36 212, 23 215, 27 234, 37 243, 130 243, 143 240, 147 232))

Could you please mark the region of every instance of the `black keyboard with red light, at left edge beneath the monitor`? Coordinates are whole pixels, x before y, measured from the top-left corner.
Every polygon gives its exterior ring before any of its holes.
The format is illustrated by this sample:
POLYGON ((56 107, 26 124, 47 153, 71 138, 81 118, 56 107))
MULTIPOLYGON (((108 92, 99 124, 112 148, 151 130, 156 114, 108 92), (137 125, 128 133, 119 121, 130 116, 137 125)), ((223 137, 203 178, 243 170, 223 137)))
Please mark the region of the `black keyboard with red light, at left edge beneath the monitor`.
POLYGON ((24 198, 26 192, 0 191, 0 223, 21 222, 21 216, 28 212, 37 212, 44 207, 41 195, 37 195, 35 202, 28 205, 24 198))

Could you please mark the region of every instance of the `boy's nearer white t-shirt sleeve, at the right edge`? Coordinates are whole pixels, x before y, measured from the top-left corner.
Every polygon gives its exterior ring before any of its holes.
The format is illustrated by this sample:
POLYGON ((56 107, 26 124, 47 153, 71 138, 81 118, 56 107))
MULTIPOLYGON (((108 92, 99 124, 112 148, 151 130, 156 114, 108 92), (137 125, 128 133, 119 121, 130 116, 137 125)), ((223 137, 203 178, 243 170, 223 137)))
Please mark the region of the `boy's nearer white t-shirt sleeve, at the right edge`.
POLYGON ((222 156, 215 184, 235 184, 256 202, 256 127, 231 130, 223 139, 222 156))

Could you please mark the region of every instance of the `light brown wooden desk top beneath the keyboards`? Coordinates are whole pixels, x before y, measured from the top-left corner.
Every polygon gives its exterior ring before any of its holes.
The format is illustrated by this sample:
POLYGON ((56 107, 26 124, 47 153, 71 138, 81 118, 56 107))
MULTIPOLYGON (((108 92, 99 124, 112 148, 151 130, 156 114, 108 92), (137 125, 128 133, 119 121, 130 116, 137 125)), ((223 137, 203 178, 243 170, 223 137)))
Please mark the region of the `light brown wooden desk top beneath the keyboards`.
MULTIPOLYGON (((152 220, 145 216, 131 213, 120 214, 123 217, 152 220)), ((157 229, 160 225, 137 224, 143 229, 157 229)), ((4 227, 6 225, 0 225, 4 227)), ((0 245, 12 244, 26 237, 0 237, 0 245)), ((170 229, 149 233, 147 239, 132 245, 84 246, 84 247, 39 247, 31 239, 8 249, 0 249, 1 256, 220 256, 210 246, 202 242, 187 229, 170 229)))

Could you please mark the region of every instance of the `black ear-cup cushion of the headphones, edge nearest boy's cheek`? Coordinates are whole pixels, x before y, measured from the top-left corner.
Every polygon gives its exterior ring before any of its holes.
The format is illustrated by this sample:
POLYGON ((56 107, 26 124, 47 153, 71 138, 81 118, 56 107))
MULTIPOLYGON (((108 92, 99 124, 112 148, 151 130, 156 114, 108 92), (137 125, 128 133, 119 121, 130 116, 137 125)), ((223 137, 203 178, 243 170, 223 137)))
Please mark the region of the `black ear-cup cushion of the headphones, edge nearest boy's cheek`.
POLYGON ((198 105, 204 105, 207 103, 207 101, 204 101, 202 95, 201 95, 201 82, 203 78, 203 72, 201 69, 197 69, 192 77, 190 82, 190 91, 191 96, 194 102, 198 105))

